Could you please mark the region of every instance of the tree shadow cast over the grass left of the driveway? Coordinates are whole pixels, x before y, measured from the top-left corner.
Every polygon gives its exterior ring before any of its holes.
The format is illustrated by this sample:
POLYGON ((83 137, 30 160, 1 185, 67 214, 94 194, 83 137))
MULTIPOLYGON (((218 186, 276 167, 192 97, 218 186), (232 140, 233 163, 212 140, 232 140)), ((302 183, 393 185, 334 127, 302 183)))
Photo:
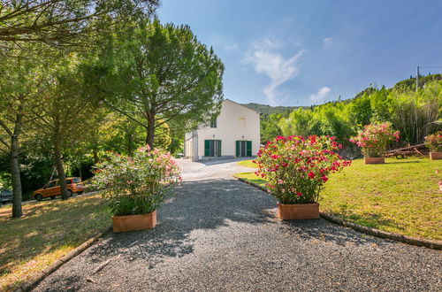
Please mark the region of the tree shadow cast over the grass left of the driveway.
POLYGON ((1 213, 0 275, 6 276, 16 265, 35 256, 80 245, 85 236, 88 239, 88 234, 92 236, 94 228, 100 227, 95 224, 98 208, 103 205, 95 197, 85 197, 24 205, 23 217, 19 219, 11 219, 10 213, 1 213))

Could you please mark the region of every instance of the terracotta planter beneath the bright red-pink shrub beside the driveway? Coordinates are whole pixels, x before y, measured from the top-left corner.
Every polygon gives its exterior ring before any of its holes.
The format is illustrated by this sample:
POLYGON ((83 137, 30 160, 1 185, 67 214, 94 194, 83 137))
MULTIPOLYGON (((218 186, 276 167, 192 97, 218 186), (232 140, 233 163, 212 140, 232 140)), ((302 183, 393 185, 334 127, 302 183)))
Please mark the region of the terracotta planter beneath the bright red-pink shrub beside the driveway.
POLYGON ((282 220, 319 219, 319 204, 280 204, 278 217, 282 220))

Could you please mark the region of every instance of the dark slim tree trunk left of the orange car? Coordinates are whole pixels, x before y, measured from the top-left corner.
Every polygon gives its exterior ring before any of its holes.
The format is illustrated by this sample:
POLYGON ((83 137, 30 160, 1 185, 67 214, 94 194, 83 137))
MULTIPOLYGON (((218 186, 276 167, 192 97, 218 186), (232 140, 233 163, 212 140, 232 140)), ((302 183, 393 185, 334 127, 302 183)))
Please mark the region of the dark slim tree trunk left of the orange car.
POLYGON ((21 180, 19 169, 19 136, 11 136, 12 217, 21 217, 21 180))

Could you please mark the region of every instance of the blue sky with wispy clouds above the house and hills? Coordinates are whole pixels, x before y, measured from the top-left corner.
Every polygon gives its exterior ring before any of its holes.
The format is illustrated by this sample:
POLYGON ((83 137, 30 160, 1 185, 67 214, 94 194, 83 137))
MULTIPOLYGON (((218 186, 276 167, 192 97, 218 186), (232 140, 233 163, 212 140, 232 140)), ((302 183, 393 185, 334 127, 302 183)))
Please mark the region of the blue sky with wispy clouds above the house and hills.
POLYGON ((163 0, 225 64, 225 98, 309 105, 442 73, 442 1, 163 0), (431 67, 430 67, 431 66, 431 67))

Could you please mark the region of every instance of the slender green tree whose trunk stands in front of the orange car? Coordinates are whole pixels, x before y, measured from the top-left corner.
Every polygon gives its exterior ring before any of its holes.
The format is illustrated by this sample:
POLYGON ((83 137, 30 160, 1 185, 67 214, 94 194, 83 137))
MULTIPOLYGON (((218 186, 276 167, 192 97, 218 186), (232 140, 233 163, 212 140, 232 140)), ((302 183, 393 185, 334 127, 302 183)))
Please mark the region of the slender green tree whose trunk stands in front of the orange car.
POLYGON ((74 147, 88 128, 95 127, 89 123, 93 120, 89 117, 98 106, 85 94, 80 68, 76 55, 61 56, 57 64, 52 65, 44 81, 44 91, 32 108, 34 131, 40 131, 51 142, 64 200, 71 194, 66 186, 63 152, 68 147, 74 147))

